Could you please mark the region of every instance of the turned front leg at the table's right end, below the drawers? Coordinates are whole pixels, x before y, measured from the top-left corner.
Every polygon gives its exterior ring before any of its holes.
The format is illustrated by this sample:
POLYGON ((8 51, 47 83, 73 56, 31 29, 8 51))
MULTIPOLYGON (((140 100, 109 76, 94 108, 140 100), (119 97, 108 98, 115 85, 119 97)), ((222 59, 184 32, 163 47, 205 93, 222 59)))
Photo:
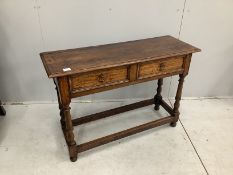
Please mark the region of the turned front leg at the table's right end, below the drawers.
POLYGON ((183 83, 184 83, 184 78, 185 76, 183 74, 179 75, 179 84, 176 92, 176 97, 175 97, 175 103, 174 103, 174 108, 173 108, 173 117, 174 117, 174 122, 172 122, 170 125, 172 127, 176 126, 176 122, 179 120, 179 107, 180 107, 180 100, 181 100, 181 94, 182 94, 182 89, 183 89, 183 83))

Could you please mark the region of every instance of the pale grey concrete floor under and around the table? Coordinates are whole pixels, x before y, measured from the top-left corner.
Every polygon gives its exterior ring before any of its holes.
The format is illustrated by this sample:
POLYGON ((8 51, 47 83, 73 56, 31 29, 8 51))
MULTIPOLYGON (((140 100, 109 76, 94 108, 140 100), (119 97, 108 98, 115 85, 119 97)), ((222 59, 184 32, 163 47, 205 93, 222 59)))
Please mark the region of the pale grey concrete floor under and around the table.
MULTIPOLYGON (((127 102, 72 103, 82 116, 127 102)), ((79 155, 71 163, 57 104, 6 105, 0 117, 1 175, 232 175, 233 99, 182 100, 176 128, 164 125, 79 155)), ((153 106, 75 128, 83 143, 154 120, 153 106)), ((157 117, 156 117, 157 116, 157 117)))

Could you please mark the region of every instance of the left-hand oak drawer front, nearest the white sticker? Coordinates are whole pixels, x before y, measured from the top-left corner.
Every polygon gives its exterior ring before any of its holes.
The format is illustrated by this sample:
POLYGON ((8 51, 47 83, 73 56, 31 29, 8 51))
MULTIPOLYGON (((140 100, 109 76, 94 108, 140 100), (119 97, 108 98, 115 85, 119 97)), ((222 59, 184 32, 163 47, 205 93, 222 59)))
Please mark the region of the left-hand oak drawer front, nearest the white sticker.
POLYGON ((71 76, 70 86, 72 91, 79 92, 128 81, 128 67, 122 66, 71 76))

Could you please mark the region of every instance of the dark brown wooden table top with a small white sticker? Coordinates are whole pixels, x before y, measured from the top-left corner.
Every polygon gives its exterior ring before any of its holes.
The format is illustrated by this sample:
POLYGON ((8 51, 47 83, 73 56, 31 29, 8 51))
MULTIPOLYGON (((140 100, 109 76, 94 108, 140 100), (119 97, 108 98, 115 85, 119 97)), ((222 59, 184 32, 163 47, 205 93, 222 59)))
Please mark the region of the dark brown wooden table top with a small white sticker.
POLYGON ((172 36, 41 53, 49 78, 199 52, 172 36))

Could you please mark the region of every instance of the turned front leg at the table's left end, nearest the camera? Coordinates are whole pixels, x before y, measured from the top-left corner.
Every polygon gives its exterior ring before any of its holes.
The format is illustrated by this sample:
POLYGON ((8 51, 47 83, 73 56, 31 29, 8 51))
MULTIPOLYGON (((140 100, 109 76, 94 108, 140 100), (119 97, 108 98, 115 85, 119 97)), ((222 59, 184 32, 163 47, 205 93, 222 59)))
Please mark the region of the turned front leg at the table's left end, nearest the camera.
POLYGON ((67 77, 60 77, 58 79, 59 84, 59 94, 61 99, 61 110, 64 115, 65 119, 65 129, 64 135, 68 145, 70 160, 75 162, 77 160, 77 146, 74 140, 74 133, 73 133, 73 124, 70 115, 70 102, 71 98, 69 95, 69 84, 67 77))

